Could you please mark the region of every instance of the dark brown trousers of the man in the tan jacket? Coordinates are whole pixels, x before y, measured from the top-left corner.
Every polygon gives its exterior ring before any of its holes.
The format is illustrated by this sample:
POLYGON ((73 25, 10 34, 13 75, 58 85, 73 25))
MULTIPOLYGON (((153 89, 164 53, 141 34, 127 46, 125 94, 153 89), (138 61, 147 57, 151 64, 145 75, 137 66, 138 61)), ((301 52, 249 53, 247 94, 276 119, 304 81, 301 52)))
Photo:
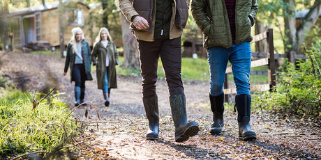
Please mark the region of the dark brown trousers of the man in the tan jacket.
POLYGON ((154 42, 137 40, 137 42, 140 50, 143 97, 156 95, 159 57, 163 63, 170 96, 184 94, 181 81, 181 38, 158 39, 154 42))

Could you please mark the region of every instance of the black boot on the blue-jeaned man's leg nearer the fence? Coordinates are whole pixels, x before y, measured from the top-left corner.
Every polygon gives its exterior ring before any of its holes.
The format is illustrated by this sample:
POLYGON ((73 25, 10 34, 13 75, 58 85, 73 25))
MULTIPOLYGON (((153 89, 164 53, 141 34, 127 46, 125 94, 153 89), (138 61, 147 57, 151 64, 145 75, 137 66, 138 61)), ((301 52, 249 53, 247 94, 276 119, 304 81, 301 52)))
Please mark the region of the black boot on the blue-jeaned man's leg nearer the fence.
POLYGON ((237 122, 239 122, 239 138, 243 141, 255 141, 256 134, 251 131, 251 95, 236 95, 237 122))

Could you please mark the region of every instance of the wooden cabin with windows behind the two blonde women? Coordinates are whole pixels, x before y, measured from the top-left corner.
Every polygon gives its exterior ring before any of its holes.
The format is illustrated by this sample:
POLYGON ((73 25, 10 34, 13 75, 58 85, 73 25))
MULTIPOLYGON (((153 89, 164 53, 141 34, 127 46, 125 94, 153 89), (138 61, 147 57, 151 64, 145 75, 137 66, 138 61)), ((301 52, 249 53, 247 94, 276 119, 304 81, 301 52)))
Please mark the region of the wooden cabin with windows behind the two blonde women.
MULTIPOLYGON (((59 1, 42 6, 22 8, 10 12, 10 18, 17 23, 17 29, 13 31, 13 47, 19 48, 29 42, 47 41, 53 47, 59 43, 59 1)), ((80 27, 84 31, 85 40, 92 45, 89 38, 89 29, 84 27, 85 19, 89 16, 89 6, 82 2, 64 3, 64 45, 68 45, 72 36, 71 30, 80 27)), ((98 32, 94 26, 91 31, 98 32)), ((94 32, 94 33, 95 33, 94 32)))

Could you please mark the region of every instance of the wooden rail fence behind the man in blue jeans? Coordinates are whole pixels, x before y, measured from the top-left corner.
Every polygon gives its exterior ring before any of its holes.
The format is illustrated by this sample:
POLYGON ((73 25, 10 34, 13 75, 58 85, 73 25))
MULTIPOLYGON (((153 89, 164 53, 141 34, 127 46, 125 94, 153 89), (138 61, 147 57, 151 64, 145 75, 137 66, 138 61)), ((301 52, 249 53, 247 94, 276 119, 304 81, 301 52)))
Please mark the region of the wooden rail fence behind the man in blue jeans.
MULTIPOLYGON (((251 86, 251 92, 255 91, 264 91, 264 90, 271 90, 273 86, 276 86, 276 64, 275 64, 275 55, 274 55, 274 44, 273 44, 273 29, 267 29, 267 31, 255 35, 253 37, 253 42, 259 42, 260 40, 267 39, 267 53, 264 52, 253 52, 252 56, 261 57, 255 61, 251 62, 251 67, 259 67, 262 65, 267 65, 267 75, 268 75, 268 83, 254 85, 251 86)), ((278 54, 278 57, 280 55, 278 54)), ((229 88, 228 87, 228 78, 227 74, 232 73, 232 67, 227 67, 225 72, 225 81, 224 81, 224 94, 225 94, 225 102, 229 101, 228 95, 236 94, 236 88, 229 88)), ((253 74, 253 73, 252 73, 253 74)), ((259 73, 256 72, 255 74, 264 74, 264 72, 259 73)))

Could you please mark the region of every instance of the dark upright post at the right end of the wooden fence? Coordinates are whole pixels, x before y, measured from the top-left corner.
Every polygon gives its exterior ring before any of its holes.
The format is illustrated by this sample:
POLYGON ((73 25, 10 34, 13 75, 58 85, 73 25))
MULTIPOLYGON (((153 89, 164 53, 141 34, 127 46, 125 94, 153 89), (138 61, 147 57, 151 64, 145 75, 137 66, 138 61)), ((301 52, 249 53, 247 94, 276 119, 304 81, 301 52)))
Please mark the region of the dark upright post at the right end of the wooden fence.
POLYGON ((269 59, 269 64, 267 65, 267 72, 271 91, 272 88, 276 86, 273 29, 267 29, 267 58, 269 59))

